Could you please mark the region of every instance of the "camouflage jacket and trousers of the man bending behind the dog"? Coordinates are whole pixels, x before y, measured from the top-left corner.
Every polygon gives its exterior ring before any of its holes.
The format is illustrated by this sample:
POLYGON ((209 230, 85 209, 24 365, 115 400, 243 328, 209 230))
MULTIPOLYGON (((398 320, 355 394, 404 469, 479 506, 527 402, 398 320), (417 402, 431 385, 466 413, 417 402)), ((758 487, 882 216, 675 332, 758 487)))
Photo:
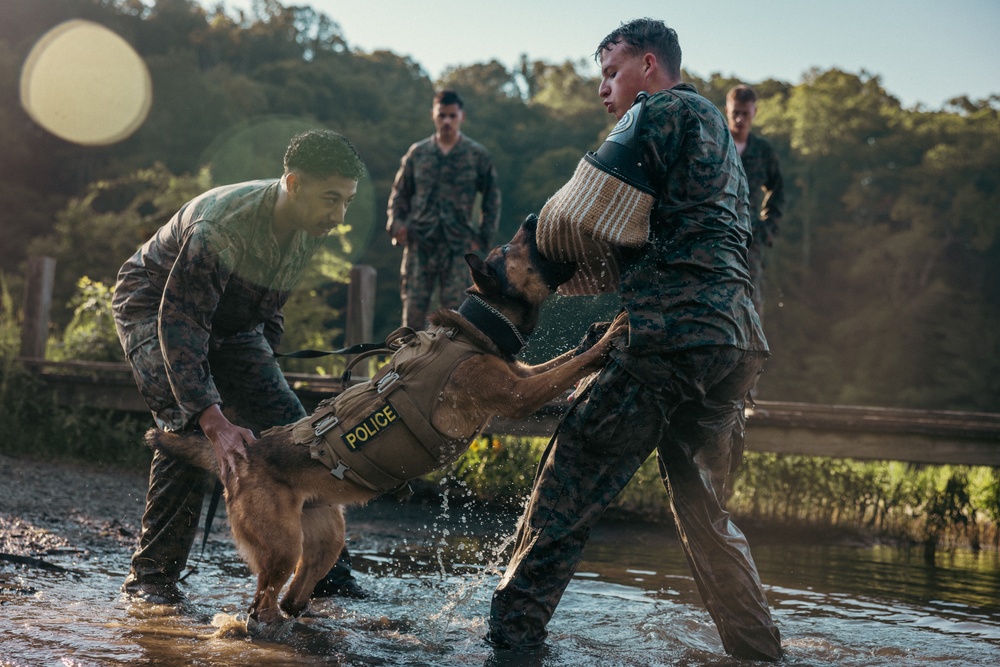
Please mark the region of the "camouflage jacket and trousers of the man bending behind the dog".
MULTIPOLYGON (((156 425, 197 428, 221 404, 256 433, 305 416, 272 354, 281 308, 323 243, 303 231, 283 249, 271 230, 278 181, 210 190, 188 202, 118 274, 122 347, 156 425)), ((207 446, 207 445, 206 445, 207 446)), ((209 477, 156 452, 142 536, 126 582, 176 583, 209 477)))

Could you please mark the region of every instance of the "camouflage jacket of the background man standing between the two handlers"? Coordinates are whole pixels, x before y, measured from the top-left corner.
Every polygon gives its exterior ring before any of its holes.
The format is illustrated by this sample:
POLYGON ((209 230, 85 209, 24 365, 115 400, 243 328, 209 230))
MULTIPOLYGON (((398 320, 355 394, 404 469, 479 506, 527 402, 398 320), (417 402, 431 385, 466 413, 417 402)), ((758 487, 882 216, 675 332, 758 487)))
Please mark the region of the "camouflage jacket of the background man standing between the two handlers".
POLYGON ((434 137, 410 146, 400 162, 389 196, 389 233, 403 226, 410 242, 432 248, 447 243, 465 251, 470 239, 489 248, 500 224, 500 185, 493 159, 464 134, 447 153, 434 137), (476 195, 482 215, 473 220, 476 195))

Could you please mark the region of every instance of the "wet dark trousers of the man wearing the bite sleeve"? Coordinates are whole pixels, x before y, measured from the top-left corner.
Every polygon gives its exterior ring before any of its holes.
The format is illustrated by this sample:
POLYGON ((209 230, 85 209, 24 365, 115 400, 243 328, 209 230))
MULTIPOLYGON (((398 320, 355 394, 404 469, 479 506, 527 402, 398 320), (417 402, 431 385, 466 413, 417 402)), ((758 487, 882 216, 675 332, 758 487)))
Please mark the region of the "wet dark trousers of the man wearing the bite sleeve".
POLYGON ((590 531, 655 450, 681 545, 725 650, 780 658, 746 538, 723 508, 726 479, 742 460, 744 399, 763 362, 763 353, 696 348, 658 357, 656 382, 609 362, 567 412, 539 464, 514 554, 493 595, 491 642, 531 648, 544 640, 590 531))

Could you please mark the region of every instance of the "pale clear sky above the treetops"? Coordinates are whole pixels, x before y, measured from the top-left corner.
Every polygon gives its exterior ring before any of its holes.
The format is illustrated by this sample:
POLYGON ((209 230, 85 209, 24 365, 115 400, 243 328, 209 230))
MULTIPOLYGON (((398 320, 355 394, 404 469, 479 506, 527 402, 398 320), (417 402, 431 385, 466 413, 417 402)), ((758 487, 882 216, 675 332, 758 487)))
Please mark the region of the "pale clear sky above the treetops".
POLYGON ((432 78, 492 59, 510 68, 521 54, 592 63, 605 35, 649 16, 677 31, 683 67, 702 78, 795 84, 813 67, 865 70, 903 106, 927 109, 1000 94, 998 0, 280 1, 312 6, 340 24, 351 48, 410 56, 432 78))

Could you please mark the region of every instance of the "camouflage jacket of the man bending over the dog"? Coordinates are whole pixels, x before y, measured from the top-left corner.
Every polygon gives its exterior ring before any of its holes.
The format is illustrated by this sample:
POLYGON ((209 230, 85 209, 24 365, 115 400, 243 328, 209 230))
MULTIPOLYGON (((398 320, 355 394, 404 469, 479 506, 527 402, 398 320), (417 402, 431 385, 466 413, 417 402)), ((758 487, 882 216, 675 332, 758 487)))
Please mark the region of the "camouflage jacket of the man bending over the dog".
POLYGON ((323 244, 272 232, 278 181, 210 190, 185 204, 122 266, 112 302, 126 354, 158 337, 173 399, 188 420, 220 397, 210 350, 236 335, 275 347, 281 308, 323 244))

